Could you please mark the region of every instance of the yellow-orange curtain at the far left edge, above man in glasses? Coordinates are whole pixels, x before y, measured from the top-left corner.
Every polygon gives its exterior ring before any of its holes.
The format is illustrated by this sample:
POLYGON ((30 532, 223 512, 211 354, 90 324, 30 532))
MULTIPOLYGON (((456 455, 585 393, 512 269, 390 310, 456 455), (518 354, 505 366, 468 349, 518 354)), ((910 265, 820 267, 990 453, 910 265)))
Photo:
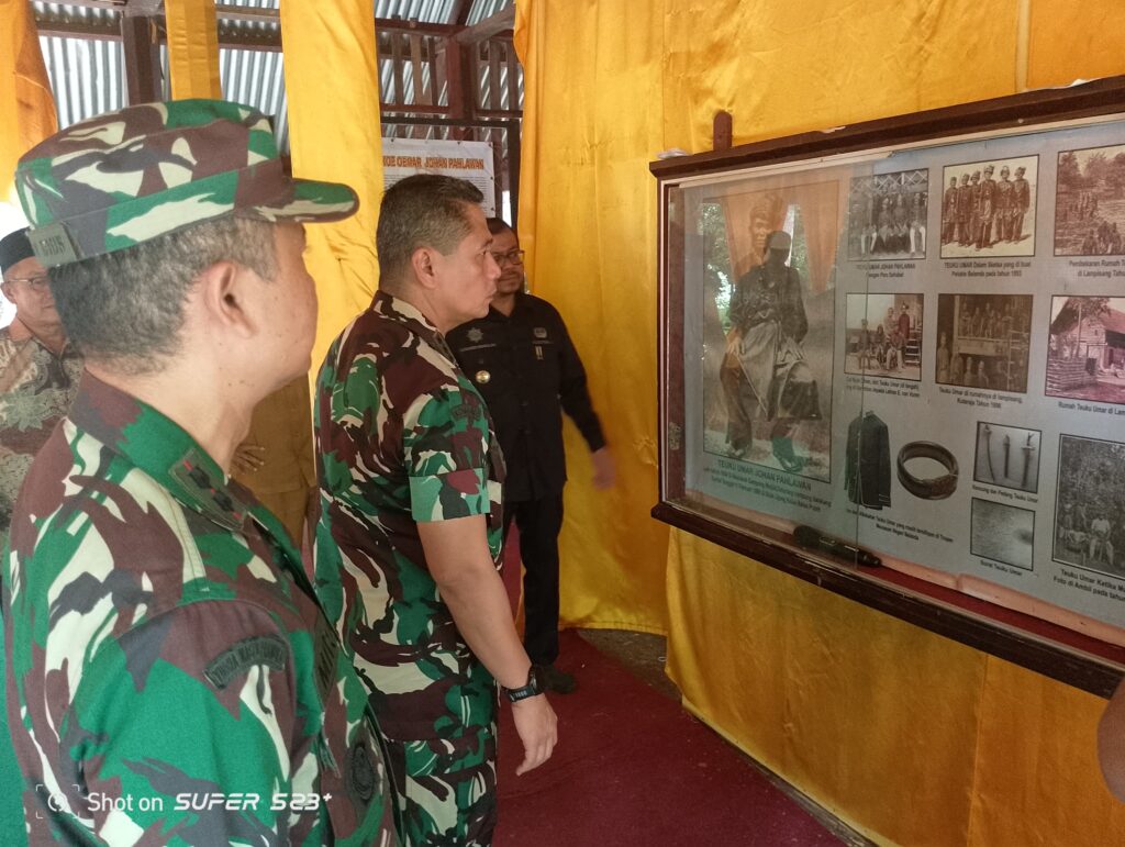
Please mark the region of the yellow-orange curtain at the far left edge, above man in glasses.
POLYGON ((16 163, 58 128, 27 0, 0 0, 0 201, 18 206, 12 193, 16 163))

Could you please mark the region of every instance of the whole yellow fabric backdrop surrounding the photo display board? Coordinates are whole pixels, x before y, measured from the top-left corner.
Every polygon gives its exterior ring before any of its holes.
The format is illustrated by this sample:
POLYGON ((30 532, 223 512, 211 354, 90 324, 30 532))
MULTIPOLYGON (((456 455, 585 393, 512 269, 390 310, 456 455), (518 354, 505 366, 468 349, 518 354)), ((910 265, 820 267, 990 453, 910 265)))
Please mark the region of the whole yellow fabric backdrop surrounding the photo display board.
POLYGON ((669 535, 647 516, 657 497, 654 155, 710 148, 719 109, 742 143, 1004 96, 1022 80, 1120 73, 1125 9, 1110 0, 516 8, 521 237, 534 290, 559 306, 587 362, 622 466, 619 489, 597 494, 569 432, 565 620, 666 628, 688 708, 880 841, 1125 843, 1125 807, 1094 760, 1104 701, 669 535))

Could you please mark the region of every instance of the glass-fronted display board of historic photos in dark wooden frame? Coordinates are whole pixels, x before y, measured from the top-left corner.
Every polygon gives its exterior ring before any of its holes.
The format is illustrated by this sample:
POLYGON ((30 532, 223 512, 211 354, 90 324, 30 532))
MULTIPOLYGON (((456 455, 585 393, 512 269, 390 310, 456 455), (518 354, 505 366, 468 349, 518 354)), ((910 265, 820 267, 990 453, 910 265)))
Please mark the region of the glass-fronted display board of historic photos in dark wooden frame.
POLYGON ((651 164, 654 515, 1107 695, 1125 79, 651 164))

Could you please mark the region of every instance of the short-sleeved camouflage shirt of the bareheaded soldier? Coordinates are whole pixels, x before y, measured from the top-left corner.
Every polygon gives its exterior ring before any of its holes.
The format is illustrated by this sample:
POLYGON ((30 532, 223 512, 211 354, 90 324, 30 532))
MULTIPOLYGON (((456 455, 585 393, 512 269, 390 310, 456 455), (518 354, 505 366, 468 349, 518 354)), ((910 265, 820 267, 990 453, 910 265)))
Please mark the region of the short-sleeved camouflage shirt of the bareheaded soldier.
POLYGON ((316 390, 317 592, 379 728, 422 740, 489 726, 495 683, 439 596, 416 525, 487 515, 500 568, 504 460, 484 400, 438 330, 384 292, 333 343, 316 390))

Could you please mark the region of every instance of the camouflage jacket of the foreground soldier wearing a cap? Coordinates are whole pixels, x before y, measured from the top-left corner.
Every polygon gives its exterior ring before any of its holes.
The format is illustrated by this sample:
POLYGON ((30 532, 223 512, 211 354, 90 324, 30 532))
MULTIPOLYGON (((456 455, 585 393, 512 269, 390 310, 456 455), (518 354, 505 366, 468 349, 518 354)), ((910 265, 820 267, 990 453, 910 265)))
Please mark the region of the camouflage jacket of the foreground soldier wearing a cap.
POLYGON ((2 610, 32 844, 395 843, 366 691, 277 519, 89 373, 2 610))

